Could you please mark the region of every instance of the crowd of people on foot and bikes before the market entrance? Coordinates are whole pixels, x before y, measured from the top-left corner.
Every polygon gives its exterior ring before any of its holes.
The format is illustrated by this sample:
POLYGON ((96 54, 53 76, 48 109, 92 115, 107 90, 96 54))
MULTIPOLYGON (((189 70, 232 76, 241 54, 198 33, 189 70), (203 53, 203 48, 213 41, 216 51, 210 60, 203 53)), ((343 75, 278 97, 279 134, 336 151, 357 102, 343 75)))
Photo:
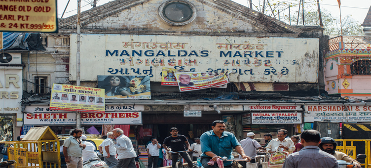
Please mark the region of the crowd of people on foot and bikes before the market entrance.
MULTIPOLYGON (((225 131, 226 126, 223 121, 214 121, 211 128, 212 130, 204 132, 200 138, 194 138, 195 142, 189 136, 179 134, 176 127, 170 128, 171 135, 164 139, 162 146, 155 137, 152 137, 147 145, 148 168, 157 168, 161 147, 171 155, 173 168, 176 166, 178 154, 186 161, 188 168, 192 168, 192 161, 196 161, 199 157, 204 168, 231 168, 232 162, 225 162, 225 158, 227 160, 235 158, 232 155, 233 149, 238 153, 240 160, 246 161, 239 162, 244 168, 247 162, 249 164, 257 162, 257 149, 270 154, 287 152, 289 155, 282 168, 338 168, 337 160, 346 162, 353 160, 346 154, 335 151, 336 142, 333 138, 321 138, 320 132, 313 129, 291 137, 287 135, 287 130, 280 129, 275 139, 267 133, 264 135, 266 143, 263 147, 254 139, 253 132, 247 133, 247 138, 238 142, 233 133, 225 131)), ((96 157, 94 152, 90 152, 95 149, 88 142, 84 142, 86 136, 82 135, 82 130, 74 129, 71 135, 63 145, 65 161, 68 168, 82 168, 83 161, 96 157)), ((119 128, 107 133, 107 139, 99 146, 99 151, 103 154, 109 168, 136 168, 137 154, 131 140, 123 135, 123 131, 119 128)), ((354 162, 354 166, 361 167, 357 161, 354 162)))

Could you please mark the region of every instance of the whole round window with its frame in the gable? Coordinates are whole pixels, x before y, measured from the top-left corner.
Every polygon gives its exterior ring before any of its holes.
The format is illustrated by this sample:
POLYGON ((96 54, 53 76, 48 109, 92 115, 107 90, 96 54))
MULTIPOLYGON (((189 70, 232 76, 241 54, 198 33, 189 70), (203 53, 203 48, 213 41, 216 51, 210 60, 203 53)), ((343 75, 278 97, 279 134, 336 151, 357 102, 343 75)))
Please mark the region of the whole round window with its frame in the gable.
POLYGON ((168 1, 159 8, 160 16, 173 25, 185 25, 196 17, 195 7, 187 1, 168 1))

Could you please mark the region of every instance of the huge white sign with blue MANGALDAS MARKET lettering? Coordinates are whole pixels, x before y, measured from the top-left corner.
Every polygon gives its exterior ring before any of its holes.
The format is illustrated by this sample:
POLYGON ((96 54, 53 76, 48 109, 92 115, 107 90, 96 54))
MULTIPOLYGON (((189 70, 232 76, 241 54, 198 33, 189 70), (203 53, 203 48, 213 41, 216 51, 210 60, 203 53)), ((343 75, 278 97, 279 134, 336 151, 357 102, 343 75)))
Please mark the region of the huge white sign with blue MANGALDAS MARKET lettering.
MULTIPOLYGON (((76 71, 76 37, 71 35, 70 72, 76 71)), ((205 73, 229 71, 230 82, 318 81, 318 39, 103 34, 81 37, 81 81, 97 81, 97 75, 145 75, 153 82, 161 82, 163 67, 205 73), (102 66, 91 67, 98 63, 102 66)), ((75 81, 76 76, 70 76, 70 80, 75 81)))

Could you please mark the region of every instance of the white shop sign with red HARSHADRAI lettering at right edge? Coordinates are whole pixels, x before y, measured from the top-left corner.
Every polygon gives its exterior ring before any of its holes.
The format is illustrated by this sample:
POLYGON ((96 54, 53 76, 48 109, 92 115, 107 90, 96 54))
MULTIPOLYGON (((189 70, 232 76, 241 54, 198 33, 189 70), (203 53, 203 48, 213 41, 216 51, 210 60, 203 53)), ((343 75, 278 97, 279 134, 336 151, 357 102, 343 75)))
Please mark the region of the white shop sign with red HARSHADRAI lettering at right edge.
POLYGON ((371 105, 304 105, 304 122, 370 122, 371 105))

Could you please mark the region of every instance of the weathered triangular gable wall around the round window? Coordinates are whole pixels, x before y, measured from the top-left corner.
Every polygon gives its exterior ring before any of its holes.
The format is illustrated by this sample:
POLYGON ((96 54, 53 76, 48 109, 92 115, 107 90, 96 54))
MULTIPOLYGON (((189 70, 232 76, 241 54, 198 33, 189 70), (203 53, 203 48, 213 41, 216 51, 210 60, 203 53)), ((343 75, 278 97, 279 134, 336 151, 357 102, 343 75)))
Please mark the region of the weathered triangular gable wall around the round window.
MULTIPOLYGON (((81 29, 139 32, 219 32, 291 34, 301 30, 231 0, 187 0, 195 6, 195 19, 186 25, 172 25, 159 15, 169 0, 113 0, 81 12, 81 29)), ((178 0, 180 1, 180 0, 178 0)), ((59 29, 76 29, 77 16, 60 19, 59 29)), ((274 35, 272 35, 274 36, 274 35)))

